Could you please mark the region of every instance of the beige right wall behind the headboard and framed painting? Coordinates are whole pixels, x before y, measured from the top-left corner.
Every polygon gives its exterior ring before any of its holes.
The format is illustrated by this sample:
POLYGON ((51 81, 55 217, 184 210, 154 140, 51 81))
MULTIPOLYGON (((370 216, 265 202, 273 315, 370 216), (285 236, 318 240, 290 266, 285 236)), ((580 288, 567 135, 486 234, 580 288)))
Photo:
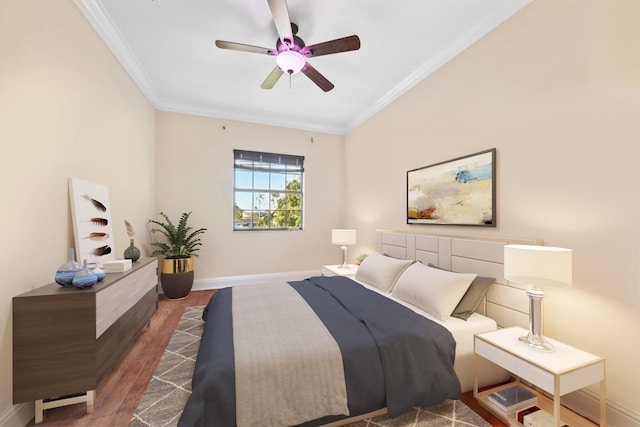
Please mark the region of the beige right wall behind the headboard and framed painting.
POLYGON ((640 2, 536 0, 347 136, 349 226, 532 237, 574 251, 547 335, 607 358, 640 413, 640 2), (498 227, 411 226, 406 171, 496 147, 498 227))

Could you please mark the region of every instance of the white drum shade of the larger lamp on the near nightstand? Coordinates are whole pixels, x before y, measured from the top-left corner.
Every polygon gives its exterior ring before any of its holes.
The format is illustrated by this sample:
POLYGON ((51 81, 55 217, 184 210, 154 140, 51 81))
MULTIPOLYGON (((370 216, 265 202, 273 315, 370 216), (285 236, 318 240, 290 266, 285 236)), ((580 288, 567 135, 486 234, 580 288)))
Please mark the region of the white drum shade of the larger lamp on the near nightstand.
POLYGON ((524 285, 571 286, 571 249, 506 245, 504 278, 524 285))

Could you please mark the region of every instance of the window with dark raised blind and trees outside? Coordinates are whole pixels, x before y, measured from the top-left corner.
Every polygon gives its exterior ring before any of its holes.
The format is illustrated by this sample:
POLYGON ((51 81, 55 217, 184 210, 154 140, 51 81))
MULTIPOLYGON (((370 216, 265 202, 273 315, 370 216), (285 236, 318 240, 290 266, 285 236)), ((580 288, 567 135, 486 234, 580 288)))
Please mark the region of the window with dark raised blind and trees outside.
POLYGON ((302 229, 304 156, 233 150, 233 157, 233 229, 302 229))

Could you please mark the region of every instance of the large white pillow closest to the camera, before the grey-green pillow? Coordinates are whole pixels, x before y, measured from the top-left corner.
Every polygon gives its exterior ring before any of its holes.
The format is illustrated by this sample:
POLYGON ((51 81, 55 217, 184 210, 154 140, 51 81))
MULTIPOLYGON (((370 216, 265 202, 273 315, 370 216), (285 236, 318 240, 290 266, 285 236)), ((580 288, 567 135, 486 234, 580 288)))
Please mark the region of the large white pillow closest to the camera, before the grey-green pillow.
POLYGON ((475 278, 475 274, 454 273, 415 263, 398 278, 391 295, 446 320, 475 278))

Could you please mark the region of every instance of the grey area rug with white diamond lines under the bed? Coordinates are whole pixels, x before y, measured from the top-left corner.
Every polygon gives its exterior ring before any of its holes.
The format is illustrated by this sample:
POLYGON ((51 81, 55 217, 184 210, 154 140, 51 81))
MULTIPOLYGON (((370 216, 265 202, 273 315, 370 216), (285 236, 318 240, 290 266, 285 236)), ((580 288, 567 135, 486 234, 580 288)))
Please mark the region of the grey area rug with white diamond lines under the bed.
MULTIPOLYGON (((173 427, 191 394, 191 376, 204 322, 203 306, 187 307, 160 359, 129 427, 173 427)), ((414 408, 389 419, 386 415, 349 424, 350 427, 491 427, 460 400, 429 408, 414 408)))

